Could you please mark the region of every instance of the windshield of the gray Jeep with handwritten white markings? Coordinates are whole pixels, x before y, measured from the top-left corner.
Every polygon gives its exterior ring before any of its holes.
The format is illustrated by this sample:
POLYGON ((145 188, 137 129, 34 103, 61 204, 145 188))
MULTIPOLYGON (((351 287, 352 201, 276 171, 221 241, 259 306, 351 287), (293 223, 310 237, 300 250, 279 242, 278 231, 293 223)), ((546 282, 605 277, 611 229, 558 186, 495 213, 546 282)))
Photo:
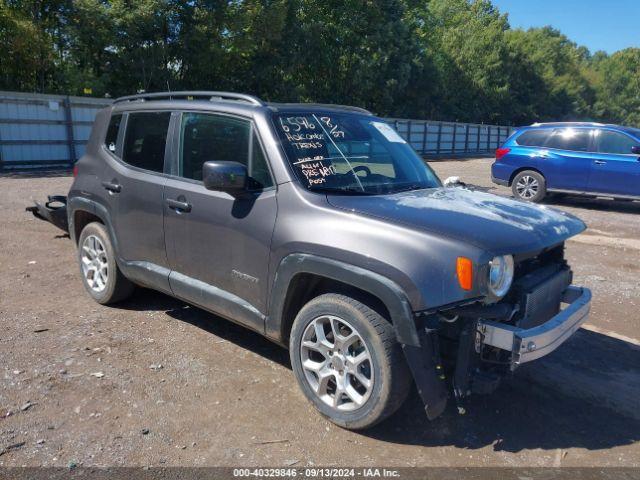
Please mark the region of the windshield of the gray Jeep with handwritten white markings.
POLYGON ((441 186, 422 158, 378 118, 295 112, 274 120, 289 162, 309 190, 376 195, 441 186))

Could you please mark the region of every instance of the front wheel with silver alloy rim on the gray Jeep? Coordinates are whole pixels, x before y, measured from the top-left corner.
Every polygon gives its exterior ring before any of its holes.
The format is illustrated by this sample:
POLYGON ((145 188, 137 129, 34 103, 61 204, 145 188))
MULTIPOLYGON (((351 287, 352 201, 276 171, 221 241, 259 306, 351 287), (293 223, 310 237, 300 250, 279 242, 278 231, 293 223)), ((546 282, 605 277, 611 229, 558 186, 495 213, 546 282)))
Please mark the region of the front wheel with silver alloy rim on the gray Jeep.
POLYGON ((291 365, 307 399, 331 422, 369 428, 406 399, 411 376, 393 326, 364 303, 324 294, 293 322, 291 365))

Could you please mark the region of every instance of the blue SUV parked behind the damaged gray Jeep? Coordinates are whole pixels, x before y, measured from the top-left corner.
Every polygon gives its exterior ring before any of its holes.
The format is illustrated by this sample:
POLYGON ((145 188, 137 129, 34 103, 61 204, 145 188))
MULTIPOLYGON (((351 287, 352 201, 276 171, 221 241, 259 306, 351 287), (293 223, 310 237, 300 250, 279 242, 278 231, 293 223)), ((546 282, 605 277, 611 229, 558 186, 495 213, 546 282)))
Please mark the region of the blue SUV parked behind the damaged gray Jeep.
POLYGON ((640 200, 640 129, 534 123, 496 150, 491 177, 530 202, 548 192, 640 200))

